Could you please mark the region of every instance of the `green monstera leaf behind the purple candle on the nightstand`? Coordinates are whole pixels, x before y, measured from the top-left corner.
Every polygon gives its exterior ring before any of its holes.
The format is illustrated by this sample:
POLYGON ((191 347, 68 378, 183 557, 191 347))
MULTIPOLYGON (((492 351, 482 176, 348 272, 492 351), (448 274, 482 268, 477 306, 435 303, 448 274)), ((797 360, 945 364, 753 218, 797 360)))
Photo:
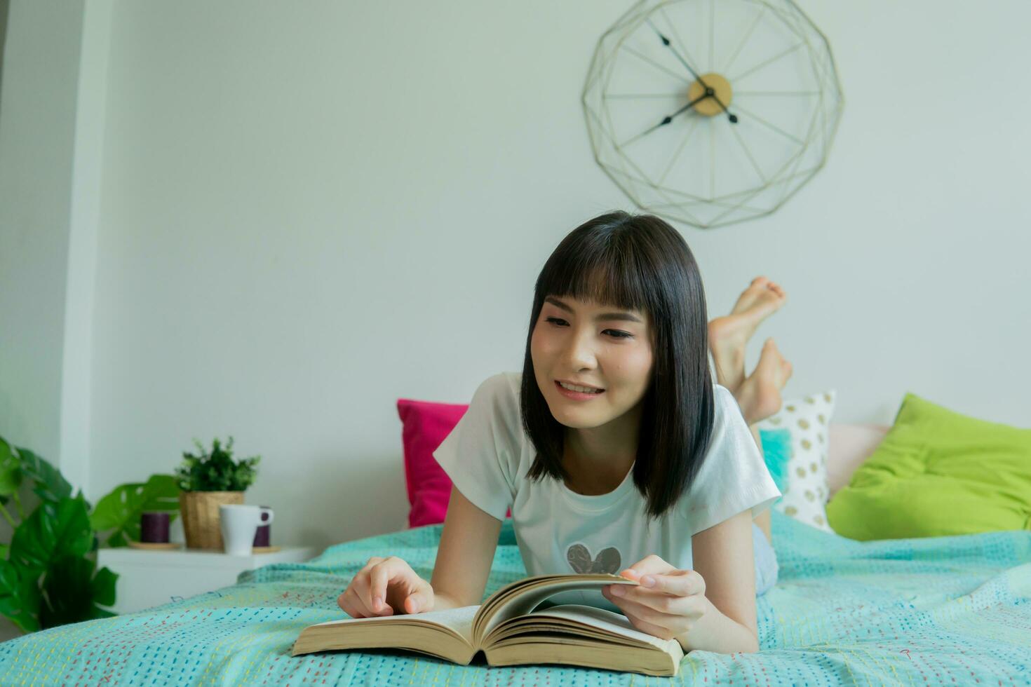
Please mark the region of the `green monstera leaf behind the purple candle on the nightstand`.
MULTIPOLYGON (((179 487, 172 475, 151 475, 145 483, 121 484, 99 502, 90 515, 97 531, 113 529, 107 545, 126 546, 139 541, 139 520, 144 511, 177 512, 179 487)), ((175 517, 174 513, 171 517, 175 517)))

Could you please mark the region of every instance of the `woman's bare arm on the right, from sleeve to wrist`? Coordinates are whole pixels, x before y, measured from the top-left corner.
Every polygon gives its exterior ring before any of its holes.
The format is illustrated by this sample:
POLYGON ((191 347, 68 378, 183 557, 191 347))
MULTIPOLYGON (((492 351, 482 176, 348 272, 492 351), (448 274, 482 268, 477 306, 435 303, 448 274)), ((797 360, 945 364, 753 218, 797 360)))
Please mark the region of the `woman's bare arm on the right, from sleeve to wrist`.
POLYGON ((691 538, 694 570, 705 580, 710 608, 677 637, 686 651, 723 654, 759 651, 756 625, 756 563, 752 510, 743 511, 691 538))

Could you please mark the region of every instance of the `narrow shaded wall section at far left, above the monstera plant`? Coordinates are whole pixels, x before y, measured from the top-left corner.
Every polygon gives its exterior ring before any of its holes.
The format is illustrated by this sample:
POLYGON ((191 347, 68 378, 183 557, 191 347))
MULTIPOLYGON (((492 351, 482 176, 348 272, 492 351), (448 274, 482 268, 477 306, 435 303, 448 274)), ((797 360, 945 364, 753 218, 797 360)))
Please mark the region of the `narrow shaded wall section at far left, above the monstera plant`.
POLYGON ((0 436, 60 461, 82 6, 11 2, 0 97, 0 436))

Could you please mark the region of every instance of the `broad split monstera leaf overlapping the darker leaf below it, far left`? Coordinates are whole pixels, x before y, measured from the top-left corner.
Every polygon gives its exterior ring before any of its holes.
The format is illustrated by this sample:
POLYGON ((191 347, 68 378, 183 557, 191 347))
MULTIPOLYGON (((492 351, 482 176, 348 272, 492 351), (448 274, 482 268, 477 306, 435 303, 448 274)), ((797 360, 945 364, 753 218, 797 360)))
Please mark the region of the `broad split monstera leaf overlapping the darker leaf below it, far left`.
POLYGON ((65 496, 57 504, 44 501, 14 530, 10 561, 42 573, 63 558, 85 556, 93 549, 93 542, 81 495, 65 496))

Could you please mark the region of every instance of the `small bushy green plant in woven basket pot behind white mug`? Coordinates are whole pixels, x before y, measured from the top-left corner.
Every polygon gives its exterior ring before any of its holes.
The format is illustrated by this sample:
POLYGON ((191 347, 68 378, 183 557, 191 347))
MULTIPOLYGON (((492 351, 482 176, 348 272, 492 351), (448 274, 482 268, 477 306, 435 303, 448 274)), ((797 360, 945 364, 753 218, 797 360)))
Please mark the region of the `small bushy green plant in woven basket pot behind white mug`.
POLYGON ((187 548, 223 550, 219 506, 242 504, 243 492, 255 481, 260 455, 233 459, 233 438, 223 446, 211 442, 210 452, 196 439, 197 455, 182 453, 175 470, 179 481, 179 514, 187 548))

